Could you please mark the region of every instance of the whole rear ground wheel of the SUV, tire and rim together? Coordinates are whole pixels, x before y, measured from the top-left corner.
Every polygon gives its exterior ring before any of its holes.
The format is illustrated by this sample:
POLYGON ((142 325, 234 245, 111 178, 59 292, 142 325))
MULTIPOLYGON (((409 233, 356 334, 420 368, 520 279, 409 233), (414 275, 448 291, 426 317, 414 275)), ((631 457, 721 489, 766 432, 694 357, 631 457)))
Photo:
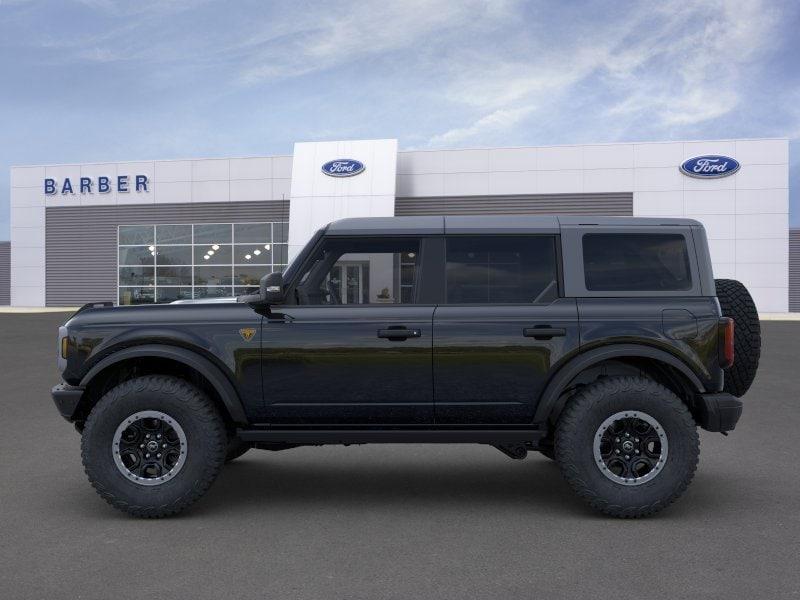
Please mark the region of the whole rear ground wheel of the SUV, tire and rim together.
POLYGON ((609 377, 584 387, 556 427, 555 457, 590 506, 644 517, 674 502, 694 476, 697 427, 675 394, 647 377, 609 377))

